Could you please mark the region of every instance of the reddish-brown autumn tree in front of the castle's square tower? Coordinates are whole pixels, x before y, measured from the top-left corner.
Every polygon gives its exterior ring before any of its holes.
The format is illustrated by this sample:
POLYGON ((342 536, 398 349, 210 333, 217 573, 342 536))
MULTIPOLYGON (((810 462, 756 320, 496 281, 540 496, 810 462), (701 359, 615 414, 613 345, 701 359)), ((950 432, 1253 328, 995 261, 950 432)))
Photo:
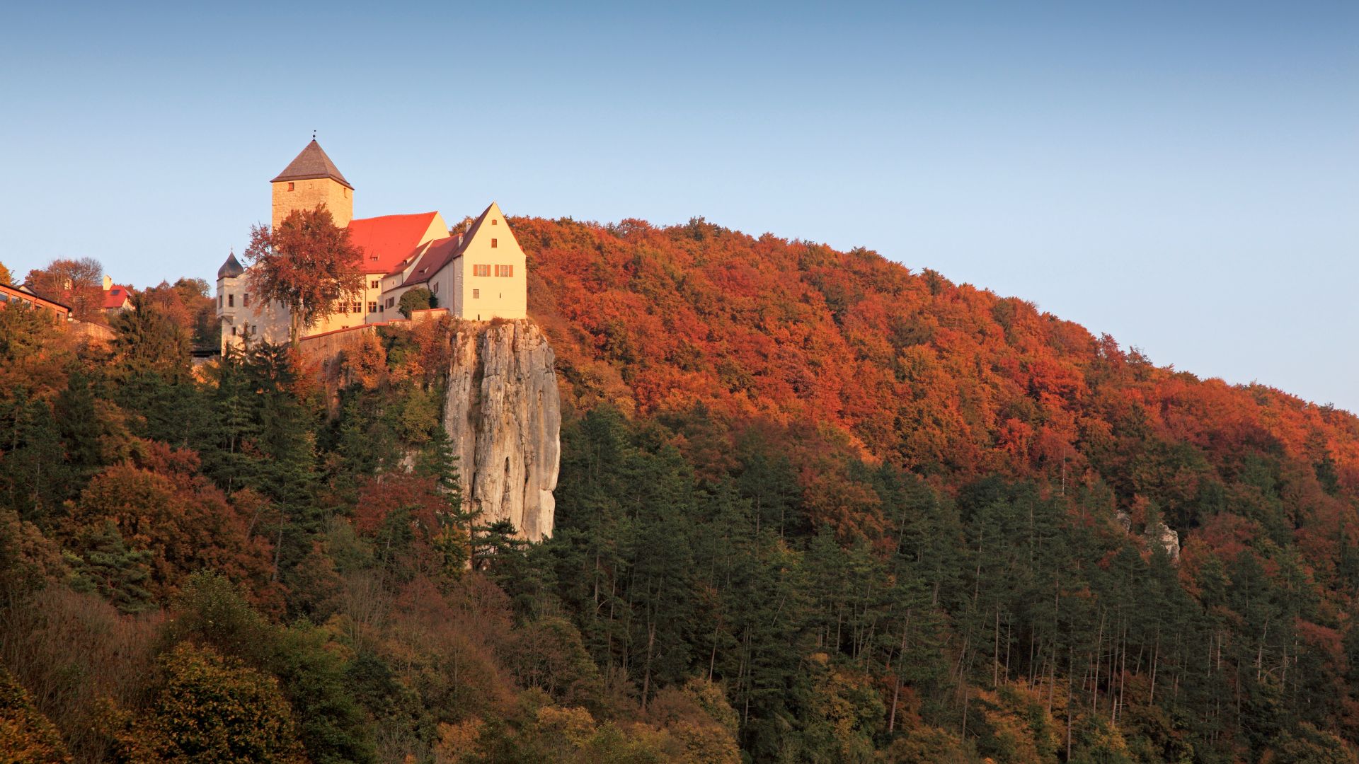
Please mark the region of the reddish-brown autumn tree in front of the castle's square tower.
POLYGON ((323 204, 295 209, 277 228, 254 226, 245 251, 250 291, 264 302, 288 309, 288 338, 296 347, 302 330, 315 326, 363 291, 361 253, 349 228, 334 224, 323 204))

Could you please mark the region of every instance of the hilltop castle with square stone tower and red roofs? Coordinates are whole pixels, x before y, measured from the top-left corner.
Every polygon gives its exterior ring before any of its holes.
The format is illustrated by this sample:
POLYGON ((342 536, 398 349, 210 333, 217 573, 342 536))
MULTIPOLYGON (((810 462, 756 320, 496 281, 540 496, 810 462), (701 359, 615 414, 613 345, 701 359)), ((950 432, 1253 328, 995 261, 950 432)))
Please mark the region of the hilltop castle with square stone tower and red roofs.
MULTIPOLYGON (((314 137, 270 185, 273 228, 294 211, 323 204, 363 253, 361 296, 337 305, 303 337, 400 319, 401 295, 416 287, 429 290, 438 309, 457 318, 527 318, 523 250, 496 203, 459 232, 450 231, 439 212, 355 219, 353 186, 314 137)), ((246 337, 288 341, 287 309, 250 298, 249 271, 232 253, 217 269, 223 349, 246 337)))

